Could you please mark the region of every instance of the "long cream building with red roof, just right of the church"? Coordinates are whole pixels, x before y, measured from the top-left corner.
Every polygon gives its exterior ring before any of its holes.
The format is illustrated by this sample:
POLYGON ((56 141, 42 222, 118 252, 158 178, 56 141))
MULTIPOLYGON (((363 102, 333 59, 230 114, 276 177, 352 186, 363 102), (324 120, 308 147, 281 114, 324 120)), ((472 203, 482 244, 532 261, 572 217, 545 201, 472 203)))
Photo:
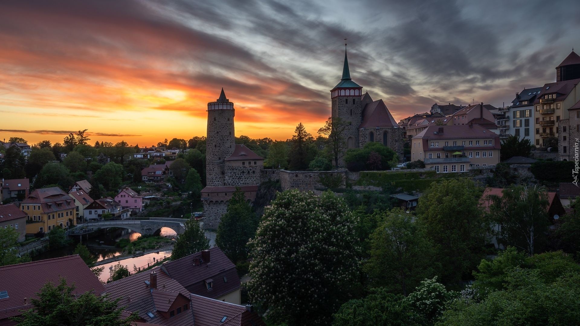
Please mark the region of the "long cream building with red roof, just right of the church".
POLYGON ((437 172, 499 163, 499 135, 481 125, 429 126, 411 139, 411 160, 437 172))

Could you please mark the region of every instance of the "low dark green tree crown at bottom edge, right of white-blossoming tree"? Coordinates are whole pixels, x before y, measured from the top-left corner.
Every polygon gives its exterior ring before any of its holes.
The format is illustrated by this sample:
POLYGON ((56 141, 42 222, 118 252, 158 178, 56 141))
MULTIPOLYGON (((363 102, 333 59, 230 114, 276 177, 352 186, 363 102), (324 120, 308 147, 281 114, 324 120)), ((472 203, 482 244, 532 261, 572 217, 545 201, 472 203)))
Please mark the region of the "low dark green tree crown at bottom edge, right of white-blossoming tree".
POLYGON ((332 326, 415 326, 418 316, 402 295, 394 295, 384 288, 369 290, 363 299, 352 299, 340 306, 332 326))

